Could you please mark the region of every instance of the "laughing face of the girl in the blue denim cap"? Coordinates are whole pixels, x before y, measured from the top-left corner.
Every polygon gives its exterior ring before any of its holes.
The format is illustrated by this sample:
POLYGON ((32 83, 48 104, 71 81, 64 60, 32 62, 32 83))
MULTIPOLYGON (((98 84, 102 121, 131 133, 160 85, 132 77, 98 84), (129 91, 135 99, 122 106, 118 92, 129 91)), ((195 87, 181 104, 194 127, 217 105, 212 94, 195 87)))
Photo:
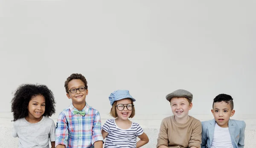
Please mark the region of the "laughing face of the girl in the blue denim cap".
MULTIPOLYGON (((122 99, 122 100, 116 101, 116 105, 119 105, 119 104, 123 104, 124 106, 126 106, 128 104, 132 104, 132 102, 131 102, 131 99, 122 99)), ((128 120, 128 118, 131 116, 131 112, 132 111, 128 110, 127 107, 124 107, 122 111, 119 111, 116 107, 117 118, 121 120, 128 120)))

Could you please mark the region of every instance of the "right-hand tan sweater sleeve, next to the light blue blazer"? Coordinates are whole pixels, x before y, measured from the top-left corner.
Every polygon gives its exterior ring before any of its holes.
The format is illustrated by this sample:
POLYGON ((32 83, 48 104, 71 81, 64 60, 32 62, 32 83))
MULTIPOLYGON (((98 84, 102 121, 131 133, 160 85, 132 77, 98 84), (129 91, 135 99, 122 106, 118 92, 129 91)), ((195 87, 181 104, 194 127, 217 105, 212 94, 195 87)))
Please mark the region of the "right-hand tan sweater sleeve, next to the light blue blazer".
POLYGON ((201 143, 202 143, 202 124, 198 120, 197 122, 195 122, 195 125, 193 126, 193 129, 192 129, 191 138, 189 140, 189 148, 192 146, 200 148, 201 143))

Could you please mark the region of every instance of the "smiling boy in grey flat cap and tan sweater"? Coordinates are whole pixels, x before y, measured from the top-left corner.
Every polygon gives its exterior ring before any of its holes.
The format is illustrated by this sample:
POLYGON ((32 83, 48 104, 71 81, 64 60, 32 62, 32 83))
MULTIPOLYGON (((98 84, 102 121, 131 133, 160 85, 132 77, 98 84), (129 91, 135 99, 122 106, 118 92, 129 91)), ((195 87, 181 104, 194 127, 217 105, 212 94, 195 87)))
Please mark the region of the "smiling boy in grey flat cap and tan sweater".
POLYGON ((178 89, 166 95, 173 116, 163 119, 157 138, 157 148, 201 148, 201 122, 189 116, 193 95, 178 89))

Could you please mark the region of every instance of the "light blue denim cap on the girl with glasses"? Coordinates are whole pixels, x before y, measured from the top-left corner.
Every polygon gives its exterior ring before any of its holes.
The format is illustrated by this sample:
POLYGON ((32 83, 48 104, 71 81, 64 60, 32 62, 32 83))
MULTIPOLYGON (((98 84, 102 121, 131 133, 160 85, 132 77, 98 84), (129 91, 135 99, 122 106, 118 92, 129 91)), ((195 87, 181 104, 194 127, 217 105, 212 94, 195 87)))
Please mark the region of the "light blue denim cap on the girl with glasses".
POLYGON ((125 98, 130 98, 133 101, 136 101, 133 97, 131 97, 128 90, 117 90, 112 92, 108 99, 110 101, 110 105, 112 106, 115 101, 122 100, 125 98))

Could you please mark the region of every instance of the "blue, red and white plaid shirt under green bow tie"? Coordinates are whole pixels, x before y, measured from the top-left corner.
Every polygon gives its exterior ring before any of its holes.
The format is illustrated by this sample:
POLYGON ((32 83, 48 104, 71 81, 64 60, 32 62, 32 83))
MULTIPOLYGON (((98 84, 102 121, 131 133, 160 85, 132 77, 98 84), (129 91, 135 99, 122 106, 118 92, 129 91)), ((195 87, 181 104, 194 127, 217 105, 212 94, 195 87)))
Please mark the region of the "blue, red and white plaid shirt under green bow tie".
POLYGON ((93 143, 103 141, 99 111, 87 103, 82 111, 85 115, 73 114, 77 110, 73 104, 64 109, 58 116, 56 125, 55 146, 66 148, 94 148, 93 143))

